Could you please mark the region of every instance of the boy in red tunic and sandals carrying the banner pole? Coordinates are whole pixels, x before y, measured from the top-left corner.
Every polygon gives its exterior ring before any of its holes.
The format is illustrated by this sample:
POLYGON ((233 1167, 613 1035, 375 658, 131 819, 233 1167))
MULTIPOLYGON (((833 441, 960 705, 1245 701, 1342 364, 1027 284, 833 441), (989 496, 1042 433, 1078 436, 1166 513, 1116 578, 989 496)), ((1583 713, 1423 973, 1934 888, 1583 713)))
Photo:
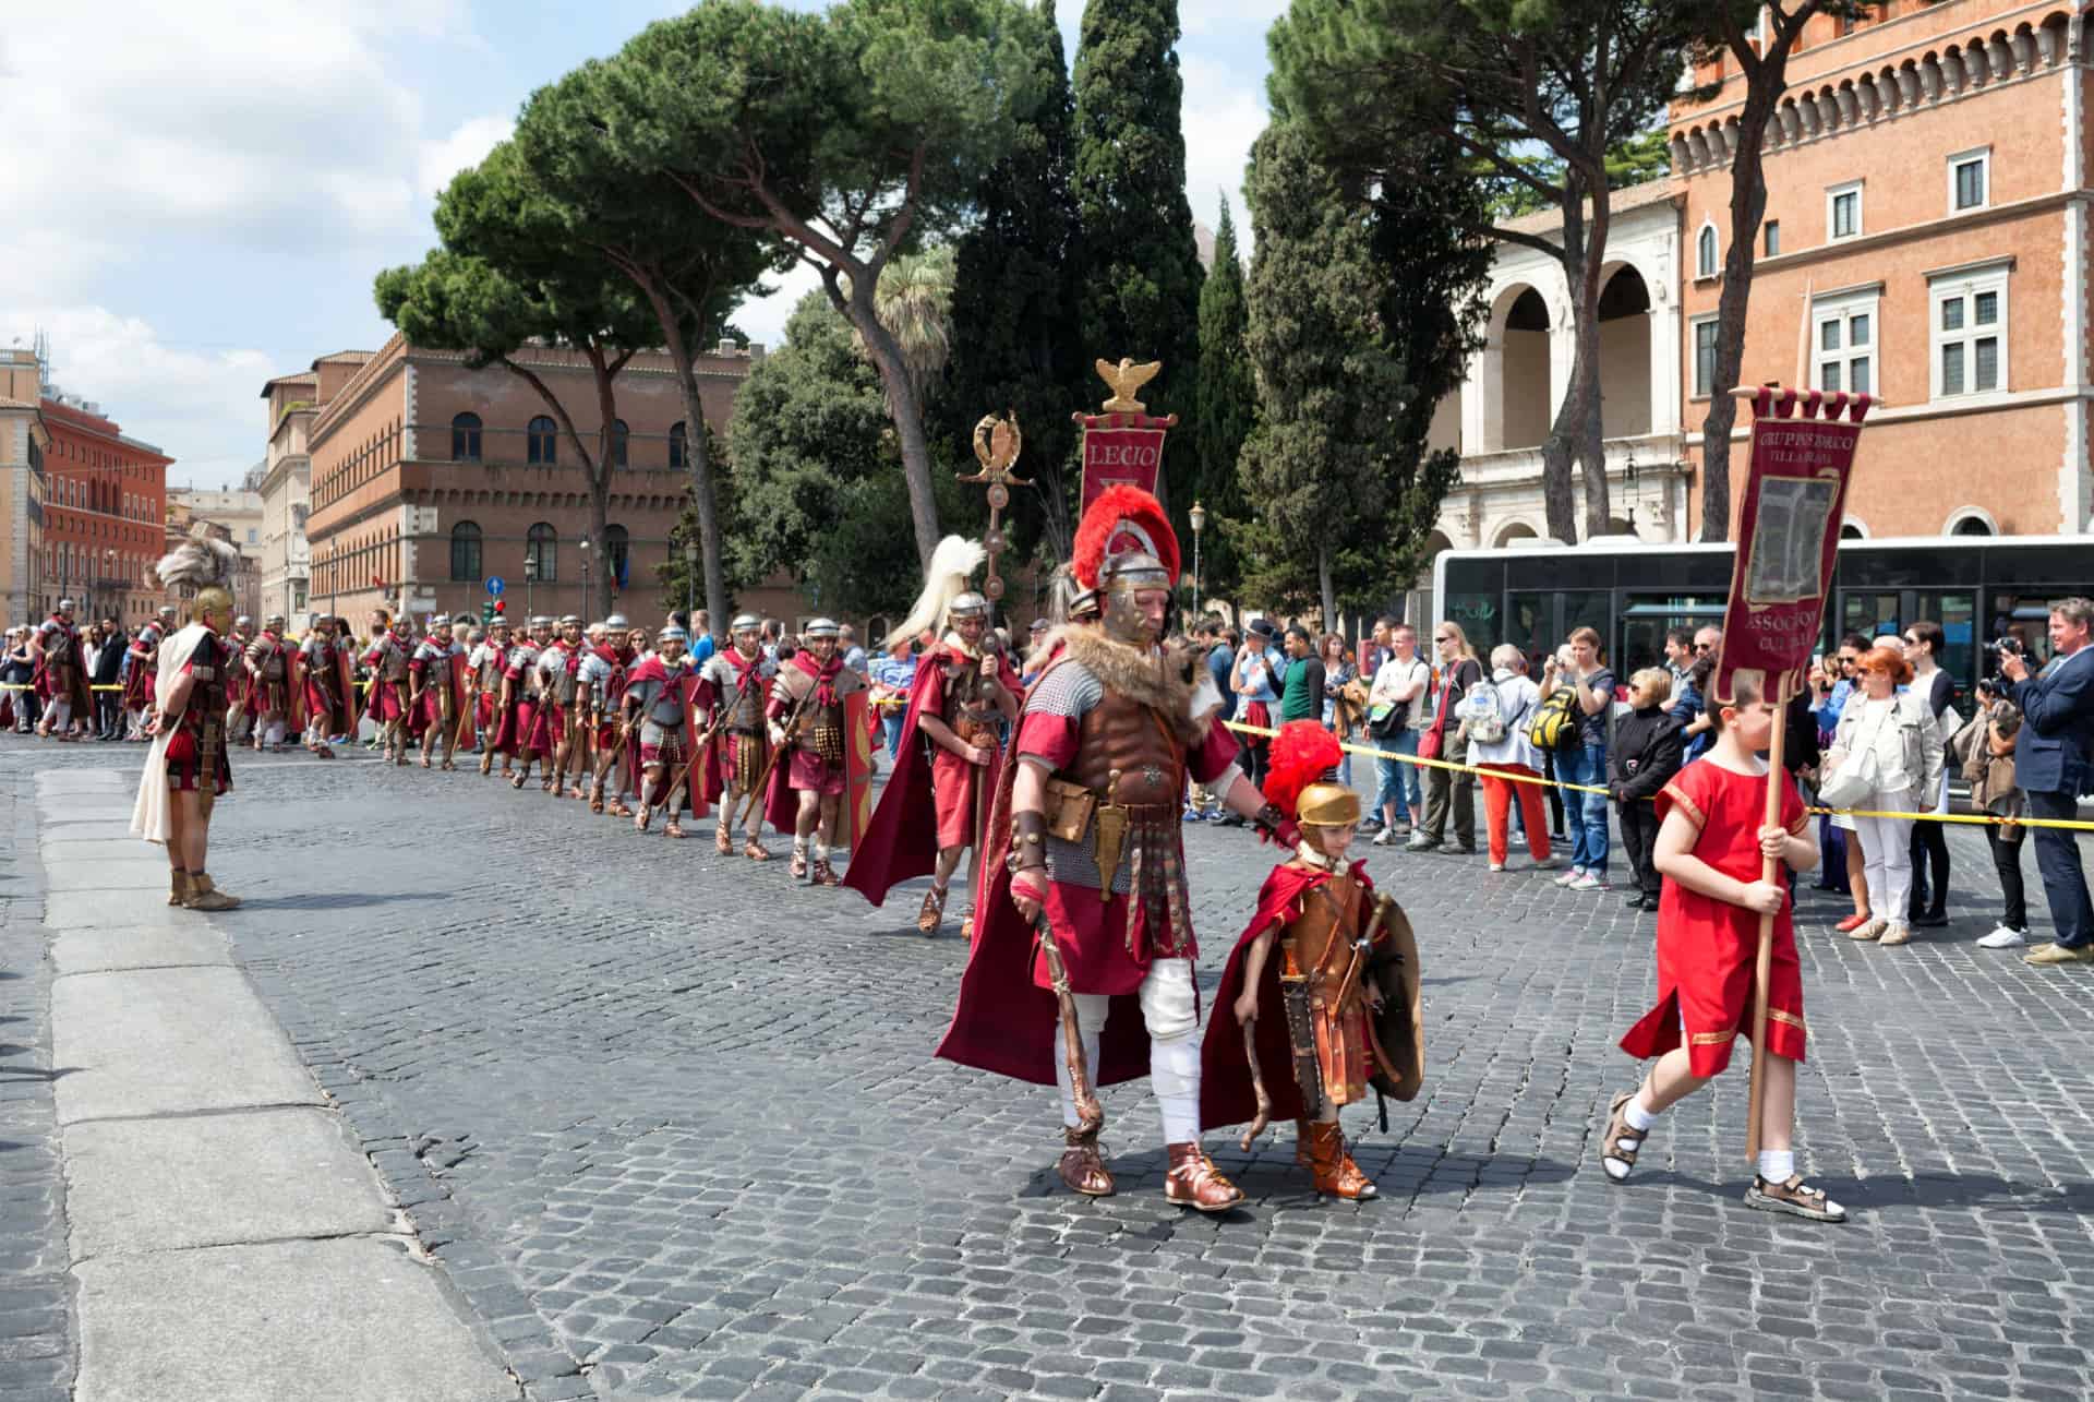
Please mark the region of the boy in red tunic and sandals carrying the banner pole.
POLYGON ((1730 1065, 1732 1044, 1753 1027, 1753 970, 1759 918, 1774 916, 1774 970, 1767 983, 1767 1086, 1759 1121, 1759 1174, 1746 1207, 1811 1222, 1845 1222, 1847 1209, 1803 1182, 1790 1134, 1797 1117, 1797 1063, 1803 1060, 1803 972, 1788 891, 1761 880, 1761 857, 1797 872, 1818 866, 1818 840, 1795 780, 1782 786, 1782 822, 1761 826, 1767 803, 1767 748, 1776 708, 1744 677, 1736 700, 1715 713, 1715 748, 1681 769, 1658 794, 1658 1004, 1629 1029, 1621 1050, 1656 1056, 1635 1092, 1608 1107, 1600 1167, 1623 1182, 1635 1155, 1675 1100, 1700 1090, 1730 1065))

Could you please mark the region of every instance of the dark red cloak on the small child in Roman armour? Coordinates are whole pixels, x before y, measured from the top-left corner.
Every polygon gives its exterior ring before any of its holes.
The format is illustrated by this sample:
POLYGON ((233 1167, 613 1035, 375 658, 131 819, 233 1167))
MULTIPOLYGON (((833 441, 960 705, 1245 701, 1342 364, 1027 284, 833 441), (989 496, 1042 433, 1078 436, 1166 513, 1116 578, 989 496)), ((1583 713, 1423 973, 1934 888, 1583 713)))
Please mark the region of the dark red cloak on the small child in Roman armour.
MULTIPOLYGON (((1355 861, 1351 870, 1361 895, 1374 895, 1367 880, 1367 863, 1355 861)), ((1282 861, 1265 878, 1258 891, 1258 910, 1250 924, 1235 937, 1235 949, 1221 970, 1221 987, 1215 989, 1215 1008, 1206 1018, 1206 1035, 1200 1044, 1200 1127, 1248 1123, 1258 1113, 1258 1096, 1250 1088, 1250 1063, 1244 1060, 1244 1031, 1235 1021, 1235 1000, 1244 993, 1244 960, 1250 943, 1275 924, 1292 922, 1300 916, 1302 899, 1332 878, 1330 872, 1305 872, 1282 861)), ((1365 903, 1361 905, 1365 910, 1365 903)), ((1288 1010, 1279 1000, 1279 941, 1265 958, 1265 974, 1258 979, 1258 1073, 1265 1077, 1265 1094, 1273 1102, 1273 1119, 1300 1119, 1302 1092, 1294 1083, 1294 1044, 1288 1037, 1288 1010)))

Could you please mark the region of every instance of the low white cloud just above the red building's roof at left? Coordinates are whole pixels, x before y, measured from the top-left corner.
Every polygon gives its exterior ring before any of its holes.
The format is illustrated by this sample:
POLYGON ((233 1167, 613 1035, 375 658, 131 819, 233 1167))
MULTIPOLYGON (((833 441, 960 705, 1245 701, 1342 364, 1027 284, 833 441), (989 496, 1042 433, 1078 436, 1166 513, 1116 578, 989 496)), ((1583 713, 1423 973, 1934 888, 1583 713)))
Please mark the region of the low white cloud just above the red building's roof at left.
POLYGON ((103 306, 23 308, 21 316, 23 327, 50 335, 57 384, 172 455, 172 482, 237 480, 262 457, 262 381, 302 369, 260 350, 170 344, 151 323, 103 306))

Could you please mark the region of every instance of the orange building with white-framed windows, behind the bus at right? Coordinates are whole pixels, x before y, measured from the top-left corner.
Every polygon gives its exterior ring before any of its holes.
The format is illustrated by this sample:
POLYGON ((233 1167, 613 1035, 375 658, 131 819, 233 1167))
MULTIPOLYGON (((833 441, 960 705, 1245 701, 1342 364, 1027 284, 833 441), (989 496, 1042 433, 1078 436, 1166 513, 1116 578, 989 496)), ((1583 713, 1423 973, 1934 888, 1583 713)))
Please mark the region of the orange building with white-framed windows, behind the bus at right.
MULTIPOLYGON (((1862 436, 1851 534, 2094 526, 2094 134, 2077 8, 1893 0, 1868 21, 1809 21, 1788 61, 1742 381, 1887 400, 1862 436)), ((1688 241, 1681 417, 1696 465, 1742 105, 1734 63, 1698 78, 1723 86, 1671 117, 1688 241)), ((1738 490, 1742 455, 1732 463, 1738 490)), ((1698 530, 1698 486, 1690 511, 1698 530)))

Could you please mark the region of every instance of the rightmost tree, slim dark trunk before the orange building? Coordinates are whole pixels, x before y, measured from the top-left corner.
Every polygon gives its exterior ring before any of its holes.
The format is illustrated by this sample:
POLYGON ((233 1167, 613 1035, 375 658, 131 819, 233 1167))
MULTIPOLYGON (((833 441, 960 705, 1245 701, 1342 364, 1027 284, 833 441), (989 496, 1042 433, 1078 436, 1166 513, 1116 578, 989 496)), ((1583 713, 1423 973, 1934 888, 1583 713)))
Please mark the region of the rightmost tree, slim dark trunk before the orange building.
POLYGON ((1751 38, 1761 19, 1757 0, 1698 0, 1686 6, 1705 25, 1713 52, 1728 54, 1744 80, 1730 147, 1730 251, 1723 256, 1723 289, 1715 310, 1715 373, 1709 381, 1709 415, 1702 419, 1702 541, 1730 539, 1730 430, 1738 421, 1738 400, 1730 392, 1744 369, 1744 312, 1753 298, 1753 260, 1759 222, 1767 214, 1765 161, 1767 122, 1788 90, 1788 54, 1818 15, 1859 19, 1872 6, 1859 0, 1774 0, 1765 29, 1751 38))

